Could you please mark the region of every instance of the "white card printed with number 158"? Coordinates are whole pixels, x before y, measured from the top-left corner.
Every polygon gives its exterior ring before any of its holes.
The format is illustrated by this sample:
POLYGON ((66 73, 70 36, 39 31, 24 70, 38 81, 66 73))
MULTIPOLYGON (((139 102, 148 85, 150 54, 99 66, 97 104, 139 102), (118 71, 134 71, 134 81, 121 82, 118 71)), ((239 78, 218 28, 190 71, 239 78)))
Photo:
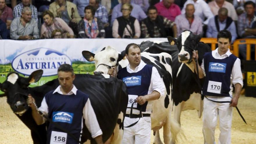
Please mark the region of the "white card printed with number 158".
POLYGON ((51 131, 50 144, 66 144, 66 142, 67 142, 67 133, 51 131))

